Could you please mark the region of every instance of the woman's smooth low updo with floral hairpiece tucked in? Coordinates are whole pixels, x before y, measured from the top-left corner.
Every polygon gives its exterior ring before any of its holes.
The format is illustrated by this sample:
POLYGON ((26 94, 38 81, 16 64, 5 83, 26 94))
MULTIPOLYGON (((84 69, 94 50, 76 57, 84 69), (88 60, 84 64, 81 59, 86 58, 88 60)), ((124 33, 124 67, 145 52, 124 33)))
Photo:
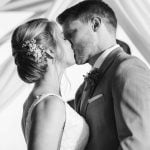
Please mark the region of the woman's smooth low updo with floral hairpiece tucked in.
POLYGON ((57 30, 56 23, 45 18, 28 21, 15 29, 11 39, 12 52, 23 81, 34 83, 43 78, 47 59, 52 58, 49 52, 58 53, 57 30))

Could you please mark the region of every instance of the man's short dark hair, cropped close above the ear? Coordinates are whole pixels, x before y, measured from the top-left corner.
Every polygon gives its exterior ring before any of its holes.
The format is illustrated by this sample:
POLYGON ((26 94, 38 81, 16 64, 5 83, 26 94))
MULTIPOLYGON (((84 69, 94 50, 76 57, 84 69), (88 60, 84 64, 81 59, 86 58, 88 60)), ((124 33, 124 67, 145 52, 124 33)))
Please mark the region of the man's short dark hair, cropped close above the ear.
POLYGON ((117 28, 117 18, 114 11, 103 1, 88 0, 82 1, 62 12, 57 21, 63 25, 66 21, 79 19, 82 22, 88 22, 92 17, 99 16, 105 19, 105 22, 114 29, 117 28))

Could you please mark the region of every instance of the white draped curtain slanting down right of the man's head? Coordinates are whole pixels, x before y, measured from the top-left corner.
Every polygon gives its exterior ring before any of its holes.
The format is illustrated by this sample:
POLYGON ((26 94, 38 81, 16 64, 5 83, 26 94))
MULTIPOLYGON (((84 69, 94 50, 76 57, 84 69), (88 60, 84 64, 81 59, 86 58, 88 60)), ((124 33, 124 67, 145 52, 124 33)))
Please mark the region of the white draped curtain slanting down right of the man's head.
POLYGON ((150 63, 150 1, 105 1, 115 10, 118 22, 131 42, 150 63))

